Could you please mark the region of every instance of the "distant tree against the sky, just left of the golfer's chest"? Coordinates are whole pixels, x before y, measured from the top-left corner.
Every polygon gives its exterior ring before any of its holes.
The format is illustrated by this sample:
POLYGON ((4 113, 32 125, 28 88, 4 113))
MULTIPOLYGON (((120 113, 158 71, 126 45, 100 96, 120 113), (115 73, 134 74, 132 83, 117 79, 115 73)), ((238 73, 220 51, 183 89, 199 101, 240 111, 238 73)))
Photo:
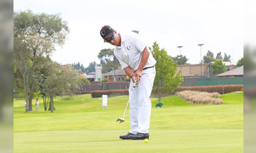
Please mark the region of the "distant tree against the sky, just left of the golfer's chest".
POLYGON ((110 72, 113 68, 118 68, 119 61, 113 54, 113 49, 102 49, 98 54, 99 60, 101 60, 102 70, 110 72))

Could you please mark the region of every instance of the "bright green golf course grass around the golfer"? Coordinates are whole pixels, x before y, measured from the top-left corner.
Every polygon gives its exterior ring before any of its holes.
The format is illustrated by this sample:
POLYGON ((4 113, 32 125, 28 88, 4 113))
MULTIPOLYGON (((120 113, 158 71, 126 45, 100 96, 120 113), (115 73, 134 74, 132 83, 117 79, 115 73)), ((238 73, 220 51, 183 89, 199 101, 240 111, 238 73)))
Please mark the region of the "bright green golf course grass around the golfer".
MULTIPOLYGON (((152 100, 150 141, 120 140, 130 129, 128 96, 90 94, 55 99, 56 111, 24 113, 24 99, 14 100, 14 152, 243 152, 243 92, 223 94, 223 105, 197 105, 165 97, 163 108, 152 100)), ((34 102, 34 101, 33 101, 34 102)), ((33 105, 35 110, 35 105, 33 105)))

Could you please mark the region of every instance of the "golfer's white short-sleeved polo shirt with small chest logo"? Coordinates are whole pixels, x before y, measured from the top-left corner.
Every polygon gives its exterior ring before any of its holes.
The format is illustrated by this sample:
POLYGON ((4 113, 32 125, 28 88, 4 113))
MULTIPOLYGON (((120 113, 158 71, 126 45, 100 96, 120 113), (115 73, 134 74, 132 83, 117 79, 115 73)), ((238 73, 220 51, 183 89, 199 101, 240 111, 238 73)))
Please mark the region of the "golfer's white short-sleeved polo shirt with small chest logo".
MULTIPOLYGON (((114 55, 116 59, 118 59, 122 69, 130 66, 133 71, 136 71, 138 65, 140 65, 142 52, 147 47, 144 41, 141 40, 138 34, 134 32, 130 32, 127 35, 121 35, 121 46, 116 46, 114 48, 114 55)), ((149 49, 148 49, 149 50, 149 49)), ((148 61, 145 64, 145 67, 152 67, 155 65, 157 61, 152 56, 150 52, 150 56, 148 57, 148 61)))

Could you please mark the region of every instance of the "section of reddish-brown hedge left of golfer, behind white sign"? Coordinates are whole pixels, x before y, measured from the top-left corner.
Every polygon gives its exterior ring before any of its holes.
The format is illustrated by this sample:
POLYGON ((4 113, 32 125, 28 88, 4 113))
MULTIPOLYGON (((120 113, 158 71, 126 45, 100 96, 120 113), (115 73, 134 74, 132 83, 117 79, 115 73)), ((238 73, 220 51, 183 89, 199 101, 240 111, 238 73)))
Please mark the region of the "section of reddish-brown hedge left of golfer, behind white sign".
POLYGON ((128 89, 122 90, 96 90, 91 92, 91 97, 97 98, 102 97, 102 94, 106 94, 108 96, 120 96, 120 95, 129 95, 128 89))

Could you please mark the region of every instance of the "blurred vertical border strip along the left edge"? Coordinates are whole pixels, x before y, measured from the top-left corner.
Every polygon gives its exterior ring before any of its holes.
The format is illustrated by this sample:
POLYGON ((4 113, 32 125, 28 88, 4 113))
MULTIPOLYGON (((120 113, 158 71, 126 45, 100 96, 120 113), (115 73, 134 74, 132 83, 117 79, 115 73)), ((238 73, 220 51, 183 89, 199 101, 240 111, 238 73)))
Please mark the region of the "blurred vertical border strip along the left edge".
POLYGON ((13 1, 0 1, 0 152, 13 152, 13 1))

